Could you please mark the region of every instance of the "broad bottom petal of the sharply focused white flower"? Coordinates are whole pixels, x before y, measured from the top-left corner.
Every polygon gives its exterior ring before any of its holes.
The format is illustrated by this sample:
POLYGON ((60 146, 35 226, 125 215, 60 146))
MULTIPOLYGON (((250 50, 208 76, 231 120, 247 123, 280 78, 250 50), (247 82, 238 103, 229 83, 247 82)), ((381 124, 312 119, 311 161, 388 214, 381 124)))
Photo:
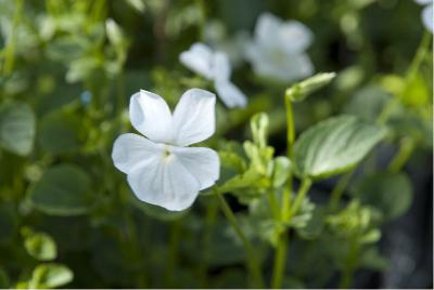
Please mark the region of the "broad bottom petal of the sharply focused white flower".
POLYGON ((159 156, 136 168, 127 180, 140 200, 171 211, 189 208, 200 189, 197 180, 175 155, 159 156))

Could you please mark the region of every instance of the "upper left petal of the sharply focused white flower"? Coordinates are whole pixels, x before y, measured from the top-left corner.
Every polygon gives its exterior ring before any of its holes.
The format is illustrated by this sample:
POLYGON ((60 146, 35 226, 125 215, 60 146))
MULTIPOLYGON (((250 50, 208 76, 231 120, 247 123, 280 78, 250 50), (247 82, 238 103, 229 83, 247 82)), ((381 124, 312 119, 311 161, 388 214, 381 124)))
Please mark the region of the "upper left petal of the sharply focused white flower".
POLYGON ((170 141, 170 109, 159 95, 144 90, 133 94, 129 103, 129 116, 136 130, 153 142, 170 141))

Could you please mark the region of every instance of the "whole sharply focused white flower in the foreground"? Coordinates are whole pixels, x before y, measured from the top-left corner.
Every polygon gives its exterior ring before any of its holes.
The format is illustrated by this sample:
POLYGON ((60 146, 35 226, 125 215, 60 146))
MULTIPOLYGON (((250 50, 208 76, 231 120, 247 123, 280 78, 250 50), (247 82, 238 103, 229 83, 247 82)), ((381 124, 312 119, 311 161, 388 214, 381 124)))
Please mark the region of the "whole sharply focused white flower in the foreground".
POLYGON ((140 200, 171 211, 184 210, 200 190, 218 180, 217 153, 187 147, 214 134, 215 104, 215 94, 201 89, 183 93, 174 114, 157 94, 141 90, 131 96, 131 124, 146 137, 120 135, 112 158, 140 200))

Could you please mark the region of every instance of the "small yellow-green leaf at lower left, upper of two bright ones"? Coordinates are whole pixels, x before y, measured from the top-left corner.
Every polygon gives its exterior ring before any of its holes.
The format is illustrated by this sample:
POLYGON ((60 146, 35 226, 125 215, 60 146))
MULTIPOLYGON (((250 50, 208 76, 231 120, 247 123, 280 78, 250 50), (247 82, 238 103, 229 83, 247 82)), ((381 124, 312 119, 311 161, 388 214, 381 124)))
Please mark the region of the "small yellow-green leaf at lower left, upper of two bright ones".
POLYGON ((39 261, 50 261, 58 255, 54 240, 44 233, 27 233, 24 246, 33 258, 39 261))

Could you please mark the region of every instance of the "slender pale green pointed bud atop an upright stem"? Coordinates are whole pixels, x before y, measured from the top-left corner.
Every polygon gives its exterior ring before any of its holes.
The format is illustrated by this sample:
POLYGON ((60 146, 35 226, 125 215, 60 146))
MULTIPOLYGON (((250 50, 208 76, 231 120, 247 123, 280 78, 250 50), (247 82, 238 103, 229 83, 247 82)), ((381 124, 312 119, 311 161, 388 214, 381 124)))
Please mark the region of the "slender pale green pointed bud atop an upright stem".
POLYGON ((317 74, 314 77, 310 77, 292 85, 290 89, 286 90, 285 96, 289 97, 292 102, 301 102, 311 93, 329 84, 335 76, 335 72, 317 74))

